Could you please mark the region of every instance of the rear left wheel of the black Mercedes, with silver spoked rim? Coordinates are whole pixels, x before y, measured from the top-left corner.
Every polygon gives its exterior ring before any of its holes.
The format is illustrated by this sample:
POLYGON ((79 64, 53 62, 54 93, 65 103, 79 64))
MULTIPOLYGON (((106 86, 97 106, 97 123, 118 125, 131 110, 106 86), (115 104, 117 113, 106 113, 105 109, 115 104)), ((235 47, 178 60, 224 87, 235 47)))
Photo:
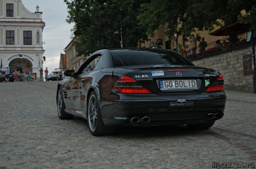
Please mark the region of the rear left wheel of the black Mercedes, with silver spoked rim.
POLYGON ((87 107, 87 119, 90 133, 95 136, 111 134, 113 127, 104 125, 99 101, 94 91, 89 96, 87 107))

